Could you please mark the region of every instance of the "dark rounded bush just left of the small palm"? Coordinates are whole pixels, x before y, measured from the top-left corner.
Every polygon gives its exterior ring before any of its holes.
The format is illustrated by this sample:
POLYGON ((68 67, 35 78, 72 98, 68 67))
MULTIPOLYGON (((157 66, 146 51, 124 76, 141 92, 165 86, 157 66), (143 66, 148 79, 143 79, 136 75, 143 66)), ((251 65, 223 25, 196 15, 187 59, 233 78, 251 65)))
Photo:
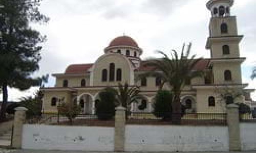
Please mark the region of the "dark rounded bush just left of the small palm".
POLYGON ((105 88, 99 93, 100 99, 96 106, 99 120, 111 120, 115 116, 115 94, 113 88, 105 88))

